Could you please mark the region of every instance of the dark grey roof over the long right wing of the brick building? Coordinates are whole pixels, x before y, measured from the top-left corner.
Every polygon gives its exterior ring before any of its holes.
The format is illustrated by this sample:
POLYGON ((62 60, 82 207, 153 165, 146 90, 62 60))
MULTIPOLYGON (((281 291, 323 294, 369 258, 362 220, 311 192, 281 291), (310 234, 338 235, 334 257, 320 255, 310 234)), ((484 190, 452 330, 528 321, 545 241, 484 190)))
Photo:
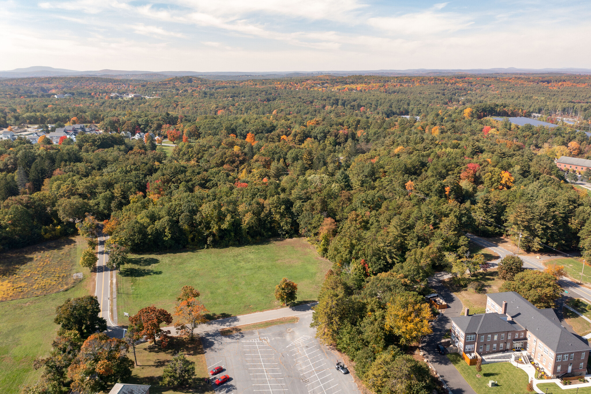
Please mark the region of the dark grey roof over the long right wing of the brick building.
POLYGON ((516 292, 489 293, 488 297, 498 305, 507 302, 507 315, 534 334, 556 353, 590 350, 582 340, 562 327, 551 308, 538 309, 516 292))

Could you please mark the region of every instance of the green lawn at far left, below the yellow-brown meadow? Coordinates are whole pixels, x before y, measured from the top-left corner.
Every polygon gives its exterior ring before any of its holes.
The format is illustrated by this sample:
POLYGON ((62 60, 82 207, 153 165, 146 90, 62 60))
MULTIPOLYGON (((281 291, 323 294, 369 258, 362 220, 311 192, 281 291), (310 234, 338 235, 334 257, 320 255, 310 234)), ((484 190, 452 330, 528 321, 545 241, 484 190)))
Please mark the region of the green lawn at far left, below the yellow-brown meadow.
POLYGON ((33 298, 0 302, 0 392, 18 393, 22 385, 37 382, 41 370, 33 370, 37 357, 47 356, 57 328, 56 306, 66 298, 88 294, 85 280, 72 289, 33 298))

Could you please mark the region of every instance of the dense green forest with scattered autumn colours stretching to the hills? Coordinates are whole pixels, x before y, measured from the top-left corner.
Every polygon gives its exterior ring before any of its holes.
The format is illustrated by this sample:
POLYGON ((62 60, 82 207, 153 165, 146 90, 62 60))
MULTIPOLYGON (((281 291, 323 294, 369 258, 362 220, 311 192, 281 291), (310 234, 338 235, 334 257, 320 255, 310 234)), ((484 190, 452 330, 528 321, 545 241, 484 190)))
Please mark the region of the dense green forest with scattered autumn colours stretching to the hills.
POLYGON ((333 263, 319 337, 376 393, 407 392, 411 375, 414 392, 430 393, 428 370, 401 353, 420 337, 397 322, 409 309, 433 317, 426 279, 468 259, 465 232, 591 253, 591 199, 554 163, 591 158, 589 138, 490 118, 587 121, 591 86, 588 76, 379 79, 1 80, 5 127, 93 122, 105 133, 0 142, 0 247, 73 234, 88 215, 138 252, 307 237, 333 263), (121 131, 178 144, 167 154, 121 131))

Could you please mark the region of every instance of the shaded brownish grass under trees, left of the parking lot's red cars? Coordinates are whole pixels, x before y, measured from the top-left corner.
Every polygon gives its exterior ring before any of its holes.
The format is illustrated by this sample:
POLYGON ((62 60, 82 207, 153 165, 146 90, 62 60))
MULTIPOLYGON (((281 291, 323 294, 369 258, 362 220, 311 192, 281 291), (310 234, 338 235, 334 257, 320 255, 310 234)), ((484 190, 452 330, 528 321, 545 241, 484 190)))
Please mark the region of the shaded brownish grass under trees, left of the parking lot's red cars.
MULTIPOLYGON (((138 358, 138 366, 133 370, 132 377, 125 383, 133 385, 151 385, 151 394, 180 394, 180 393, 212 393, 210 385, 205 383, 205 377, 208 377, 205 353, 201 341, 190 342, 185 338, 172 338, 166 349, 160 348, 158 344, 142 343, 135 347, 135 354, 138 358), (195 379, 187 387, 173 389, 171 387, 160 386, 160 376, 164 367, 168 364, 178 351, 182 351, 187 359, 195 363, 195 379)), ((133 350, 128 354, 130 359, 134 359, 133 350)))

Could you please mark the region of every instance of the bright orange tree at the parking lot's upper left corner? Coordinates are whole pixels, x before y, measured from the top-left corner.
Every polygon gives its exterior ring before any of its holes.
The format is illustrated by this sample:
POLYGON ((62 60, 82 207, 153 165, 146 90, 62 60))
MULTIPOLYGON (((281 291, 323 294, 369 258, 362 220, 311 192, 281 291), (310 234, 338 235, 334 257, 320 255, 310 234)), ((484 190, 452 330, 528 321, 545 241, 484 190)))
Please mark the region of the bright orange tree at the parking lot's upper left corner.
POLYGON ((207 322, 205 314, 209 311, 197 299, 199 291, 193 286, 183 286, 181 294, 177 297, 177 305, 174 307, 174 315, 177 321, 174 328, 181 335, 187 335, 191 340, 198 325, 207 322))

